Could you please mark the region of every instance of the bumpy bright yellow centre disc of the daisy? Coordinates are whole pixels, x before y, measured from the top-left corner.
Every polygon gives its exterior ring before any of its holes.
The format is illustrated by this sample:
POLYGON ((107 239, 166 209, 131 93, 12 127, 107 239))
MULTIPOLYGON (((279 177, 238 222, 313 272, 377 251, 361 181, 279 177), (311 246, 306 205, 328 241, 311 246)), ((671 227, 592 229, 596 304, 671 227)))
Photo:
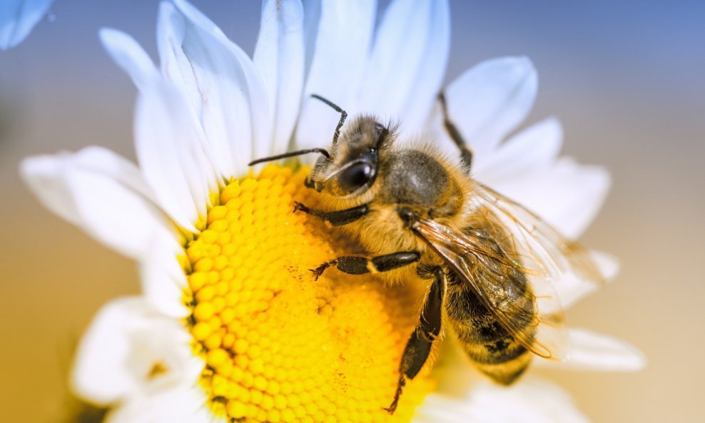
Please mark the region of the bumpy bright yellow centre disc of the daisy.
POLYGON ((215 414, 237 422, 408 422, 434 387, 423 371, 388 407, 418 320, 406 287, 331 268, 354 248, 317 219, 308 169, 269 165, 233 180, 188 243, 186 324, 206 362, 201 385, 215 414))

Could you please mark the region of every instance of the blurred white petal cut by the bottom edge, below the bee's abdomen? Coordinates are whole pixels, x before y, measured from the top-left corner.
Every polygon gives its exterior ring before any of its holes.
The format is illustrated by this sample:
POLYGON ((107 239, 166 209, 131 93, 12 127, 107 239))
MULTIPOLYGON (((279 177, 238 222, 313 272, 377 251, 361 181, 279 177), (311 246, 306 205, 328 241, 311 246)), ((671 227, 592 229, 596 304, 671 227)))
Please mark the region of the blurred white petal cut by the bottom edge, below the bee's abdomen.
POLYGON ((554 384, 525 377, 512 387, 478 383, 464 397, 430 394, 414 423, 586 423, 572 399, 554 384))

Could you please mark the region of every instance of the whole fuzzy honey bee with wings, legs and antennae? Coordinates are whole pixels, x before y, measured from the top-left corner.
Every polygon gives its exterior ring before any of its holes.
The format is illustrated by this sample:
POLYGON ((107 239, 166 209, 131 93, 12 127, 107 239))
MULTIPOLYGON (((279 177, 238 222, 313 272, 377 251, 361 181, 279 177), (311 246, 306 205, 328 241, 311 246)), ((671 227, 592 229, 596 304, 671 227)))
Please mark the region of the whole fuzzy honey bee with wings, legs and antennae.
POLYGON ((407 380, 430 355, 442 325, 450 328, 475 366, 511 384, 533 355, 561 360, 564 316, 552 282, 573 272, 602 282, 589 252, 521 205, 470 178, 472 151, 439 102, 445 129, 460 148, 460 163, 428 143, 398 146, 395 126, 362 115, 344 126, 340 113, 329 148, 294 151, 250 165, 320 153, 306 185, 323 197, 323 210, 295 203, 295 211, 340 227, 368 256, 346 255, 329 267, 390 282, 426 282, 420 318, 405 346, 393 413, 407 380), (341 129, 343 131, 341 132, 341 129), (330 209, 330 210, 325 210, 330 209))

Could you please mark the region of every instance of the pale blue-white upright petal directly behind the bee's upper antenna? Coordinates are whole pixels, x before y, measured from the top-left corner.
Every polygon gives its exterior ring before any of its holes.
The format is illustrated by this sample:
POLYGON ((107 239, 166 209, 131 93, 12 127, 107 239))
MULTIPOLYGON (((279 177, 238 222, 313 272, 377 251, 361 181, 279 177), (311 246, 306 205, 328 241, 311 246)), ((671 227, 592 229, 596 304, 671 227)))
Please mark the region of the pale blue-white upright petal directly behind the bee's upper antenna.
POLYGON ((367 65, 372 29, 375 24, 374 0, 310 1, 305 4, 308 32, 307 67, 301 117, 296 130, 297 148, 322 147, 330 143, 340 114, 324 103, 310 98, 318 94, 338 104, 350 115, 359 110, 355 104, 362 71, 367 65), (312 16, 320 20, 311 21, 312 16), (313 35, 315 34, 315 35, 313 35))

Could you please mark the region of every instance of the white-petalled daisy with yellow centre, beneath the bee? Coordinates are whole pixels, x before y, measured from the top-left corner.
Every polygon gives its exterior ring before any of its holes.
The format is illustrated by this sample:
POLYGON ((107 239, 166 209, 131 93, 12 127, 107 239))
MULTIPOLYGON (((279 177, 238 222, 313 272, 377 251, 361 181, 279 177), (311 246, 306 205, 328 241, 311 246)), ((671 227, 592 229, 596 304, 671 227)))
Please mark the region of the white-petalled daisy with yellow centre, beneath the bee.
MULTIPOLYGON (((103 148, 28 158, 21 172, 52 211, 136 260, 142 295, 110 302, 79 345, 73 389, 109 409, 109 422, 582 422, 557 387, 527 377, 495 387, 472 373, 448 337, 395 392, 418 320, 406 286, 308 269, 355 248, 295 200, 308 168, 250 170, 255 158, 325 146, 338 114, 400 121, 400 139, 442 131, 437 93, 450 48, 446 1, 395 0, 375 28, 375 1, 265 0, 253 58, 185 0, 163 2, 157 68, 136 41, 104 29, 108 53, 139 90, 138 165, 103 148), (454 352, 455 351, 455 352, 454 352), (454 355, 455 354, 455 355, 454 355)), ((527 58, 480 63, 445 88, 475 151, 477 180, 509 195, 570 238, 589 224, 609 185, 602 168, 558 158, 552 118, 514 136, 537 91, 527 58)), ((457 153, 454 153, 457 154, 457 153)), ((616 271, 596 258, 606 276, 616 271)), ((592 285, 557 281, 564 306, 592 285)), ((629 345, 569 332, 565 363, 634 370, 629 345)), ((536 360, 540 361, 540 360, 536 360)))

